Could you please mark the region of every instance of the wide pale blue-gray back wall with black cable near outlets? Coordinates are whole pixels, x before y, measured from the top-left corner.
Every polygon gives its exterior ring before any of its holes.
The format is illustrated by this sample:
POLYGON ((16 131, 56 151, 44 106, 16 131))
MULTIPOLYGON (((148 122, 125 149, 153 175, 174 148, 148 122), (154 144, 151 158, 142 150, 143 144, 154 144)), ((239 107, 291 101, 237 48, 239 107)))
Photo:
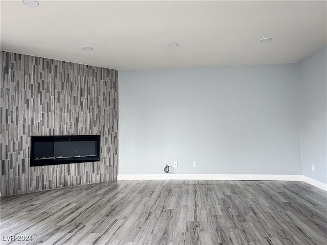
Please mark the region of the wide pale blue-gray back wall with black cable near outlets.
POLYGON ((301 174, 297 64, 123 70, 119 88, 119 174, 301 174))

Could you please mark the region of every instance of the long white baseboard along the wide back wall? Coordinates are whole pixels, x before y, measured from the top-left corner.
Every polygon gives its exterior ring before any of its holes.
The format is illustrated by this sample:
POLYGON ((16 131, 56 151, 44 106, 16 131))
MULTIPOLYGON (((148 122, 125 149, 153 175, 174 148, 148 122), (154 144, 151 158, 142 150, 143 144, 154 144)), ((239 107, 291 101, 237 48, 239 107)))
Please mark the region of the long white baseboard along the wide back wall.
POLYGON ((283 180, 301 181, 301 175, 118 175, 117 180, 283 180))

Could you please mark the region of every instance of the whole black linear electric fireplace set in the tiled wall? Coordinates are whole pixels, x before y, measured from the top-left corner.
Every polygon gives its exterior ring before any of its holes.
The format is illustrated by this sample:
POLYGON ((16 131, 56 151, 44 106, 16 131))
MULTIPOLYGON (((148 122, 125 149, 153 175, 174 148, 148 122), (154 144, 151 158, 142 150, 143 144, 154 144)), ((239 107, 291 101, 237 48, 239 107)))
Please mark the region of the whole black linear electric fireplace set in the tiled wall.
POLYGON ((30 166, 100 161, 100 135, 31 136, 30 166))

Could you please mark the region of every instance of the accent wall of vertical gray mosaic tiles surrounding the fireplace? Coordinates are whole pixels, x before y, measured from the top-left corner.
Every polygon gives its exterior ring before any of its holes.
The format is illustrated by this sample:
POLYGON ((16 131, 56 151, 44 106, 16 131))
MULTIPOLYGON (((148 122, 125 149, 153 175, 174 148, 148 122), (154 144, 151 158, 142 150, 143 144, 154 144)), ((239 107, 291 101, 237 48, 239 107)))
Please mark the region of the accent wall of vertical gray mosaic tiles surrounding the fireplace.
POLYGON ((116 179, 117 71, 1 52, 1 193, 116 179), (100 162, 30 167, 31 135, 99 134, 100 162))

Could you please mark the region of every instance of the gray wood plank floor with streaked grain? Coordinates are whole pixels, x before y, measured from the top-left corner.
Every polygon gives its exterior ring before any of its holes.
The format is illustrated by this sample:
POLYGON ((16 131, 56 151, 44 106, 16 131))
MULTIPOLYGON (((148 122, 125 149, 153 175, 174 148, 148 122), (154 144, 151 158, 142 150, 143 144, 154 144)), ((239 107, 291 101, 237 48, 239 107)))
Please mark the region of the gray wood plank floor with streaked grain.
POLYGON ((106 182, 1 198, 1 238, 1 244, 325 245, 327 198, 304 182, 106 182))

